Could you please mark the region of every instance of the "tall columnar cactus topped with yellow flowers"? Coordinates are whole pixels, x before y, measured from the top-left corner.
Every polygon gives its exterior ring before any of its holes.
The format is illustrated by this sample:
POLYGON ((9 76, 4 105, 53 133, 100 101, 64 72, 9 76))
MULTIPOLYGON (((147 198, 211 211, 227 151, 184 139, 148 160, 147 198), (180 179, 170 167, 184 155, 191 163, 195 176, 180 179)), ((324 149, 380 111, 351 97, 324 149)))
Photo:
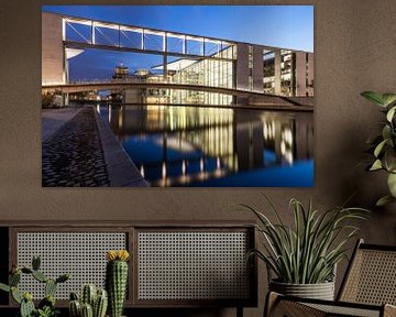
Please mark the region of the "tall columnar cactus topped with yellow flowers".
POLYGON ((127 250, 108 251, 109 262, 106 267, 106 288, 109 294, 111 317, 121 317, 127 293, 128 259, 127 250))

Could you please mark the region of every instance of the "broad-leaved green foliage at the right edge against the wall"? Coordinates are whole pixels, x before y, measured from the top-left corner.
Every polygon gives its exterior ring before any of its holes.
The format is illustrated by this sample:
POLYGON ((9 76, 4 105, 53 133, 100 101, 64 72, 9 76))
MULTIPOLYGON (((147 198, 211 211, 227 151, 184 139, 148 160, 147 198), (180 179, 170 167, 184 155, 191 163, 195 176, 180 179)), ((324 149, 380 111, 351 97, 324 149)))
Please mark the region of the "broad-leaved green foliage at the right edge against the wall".
POLYGON ((391 195, 382 197, 376 203, 377 206, 384 206, 396 201, 396 94, 364 91, 361 95, 381 107, 386 119, 382 122, 381 134, 367 140, 374 156, 367 170, 370 172, 385 171, 388 173, 387 185, 391 195))

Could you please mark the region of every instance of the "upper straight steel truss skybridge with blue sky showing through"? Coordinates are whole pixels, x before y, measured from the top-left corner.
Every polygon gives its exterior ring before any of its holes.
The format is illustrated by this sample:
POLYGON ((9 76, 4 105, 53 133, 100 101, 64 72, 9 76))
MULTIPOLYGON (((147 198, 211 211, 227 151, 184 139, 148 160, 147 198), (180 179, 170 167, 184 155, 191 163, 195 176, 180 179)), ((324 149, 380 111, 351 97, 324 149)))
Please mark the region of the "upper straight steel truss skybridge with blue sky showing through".
MULTIPOLYGON (((108 21, 62 17, 63 41, 65 47, 69 48, 101 48, 230 61, 237 59, 237 46, 240 43, 108 21)), ((283 50, 272 46, 263 47, 273 52, 283 50)))

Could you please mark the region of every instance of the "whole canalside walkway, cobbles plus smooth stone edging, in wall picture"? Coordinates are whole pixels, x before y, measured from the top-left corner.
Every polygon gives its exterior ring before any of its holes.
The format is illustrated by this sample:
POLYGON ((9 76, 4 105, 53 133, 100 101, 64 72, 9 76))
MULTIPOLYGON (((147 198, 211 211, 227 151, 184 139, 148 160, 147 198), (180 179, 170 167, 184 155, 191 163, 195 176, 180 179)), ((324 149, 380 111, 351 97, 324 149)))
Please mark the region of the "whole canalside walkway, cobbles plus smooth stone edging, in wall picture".
POLYGON ((94 107, 43 110, 43 187, 145 187, 94 107))

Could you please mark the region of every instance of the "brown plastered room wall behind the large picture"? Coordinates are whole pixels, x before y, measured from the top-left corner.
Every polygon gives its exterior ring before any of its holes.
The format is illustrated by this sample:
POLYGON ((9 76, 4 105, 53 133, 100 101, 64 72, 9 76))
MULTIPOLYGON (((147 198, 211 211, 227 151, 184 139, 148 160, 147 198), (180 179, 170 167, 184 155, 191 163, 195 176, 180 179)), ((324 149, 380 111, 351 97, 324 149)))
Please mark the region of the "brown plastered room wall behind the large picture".
MULTIPOLYGON (((46 1, 46 4, 57 1, 46 1)), ((68 3, 81 3, 70 0, 68 3)), ((97 1, 85 1, 95 3, 97 1)), ((107 1, 100 2, 109 4, 107 1)), ((154 1, 111 1, 131 4, 154 1)), ((193 1, 167 3, 196 3, 193 1)), ((202 0, 200 4, 213 4, 202 0)), ((220 4, 246 2, 219 1, 220 4)), ((251 4, 279 4, 277 0, 251 4)), ((282 4, 300 4, 284 0, 282 4)), ((396 17, 394 0, 312 1, 315 8, 316 125, 314 188, 42 188, 41 187, 41 4, 15 1, 0 4, 0 219, 2 220, 241 220, 253 218, 233 208, 245 203, 264 208, 262 193, 271 197, 287 222, 293 221, 288 201, 297 197, 324 210, 356 192, 351 204, 373 210, 362 223, 360 237, 374 243, 396 244, 395 205, 376 209, 386 193, 381 173, 366 173, 358 163, 366 156, 365 139, 377 131, 383 119, 378 109, 360 97, 364 90, 396 90, 396 17), (20 28, 10 28, 23 21, 20 28)), ((248 26, 246 26, 248 28, 248 26)), ((343 276, 340 265, 338 283, 343 276)), ((260 307, 245 309, 246 317, 262 316, 266 292, 261 266, 260 307)), ((189 317, 185 315, 186 317, 189 317)), ((197 316, 191 314, 190 316, 197 316)), ((208 316, 208 315, 206 315, 208 316)), ((226 309, 217 316, 235 316, 226 309)))

